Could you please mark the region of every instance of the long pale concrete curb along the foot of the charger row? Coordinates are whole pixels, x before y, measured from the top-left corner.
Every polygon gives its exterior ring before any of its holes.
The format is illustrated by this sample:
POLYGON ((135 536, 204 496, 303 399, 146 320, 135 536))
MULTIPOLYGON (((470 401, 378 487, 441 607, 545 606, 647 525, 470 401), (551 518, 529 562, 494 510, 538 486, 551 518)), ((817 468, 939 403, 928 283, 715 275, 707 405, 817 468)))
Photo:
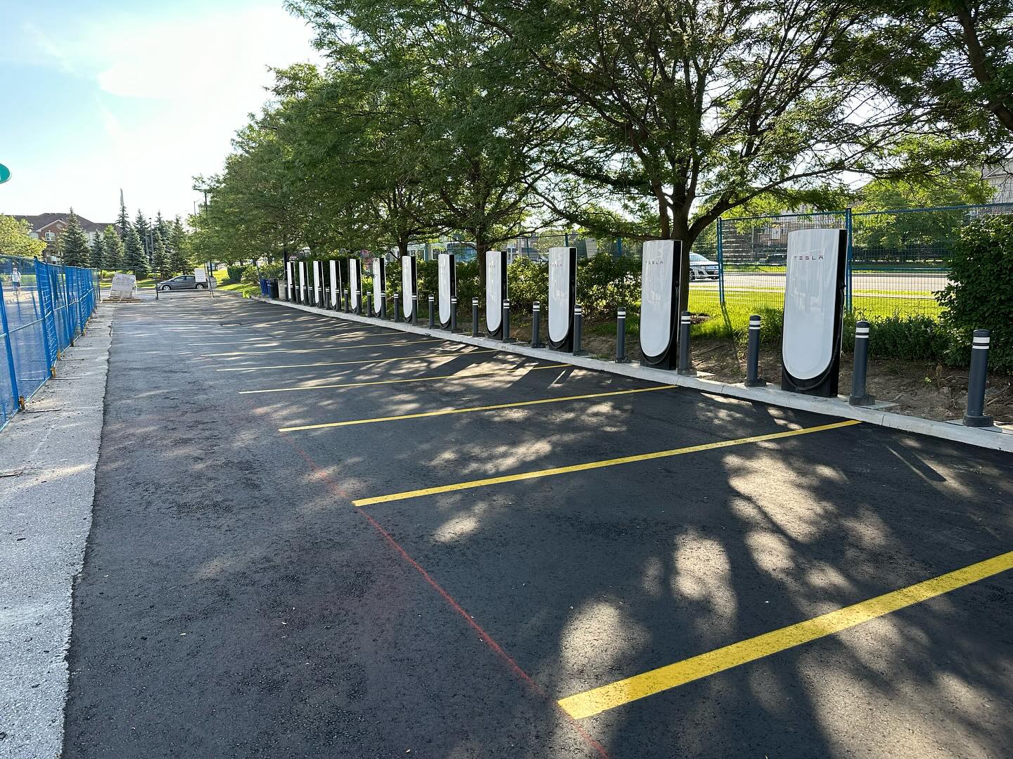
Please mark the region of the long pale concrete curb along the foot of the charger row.
MULTIPOLYGON (((442 329, 428 329, 427 327, 413 327, 403 322, 381 321, 372 317, 356 316, 339 311, 329 311, 318 309, 314 306, 302 306, 288 301, 274 301, 260 296, 252 296, 249 300, 260 303, 284 306, 285 308, 305 311, 316 316, 329 316, 334 319, 341 319, 347 322, 359 322, 369 324, 374 327, 386 327, 387 329, 410 332, 416 335, 428 335, 440 337, 451 342, 464 343, 465 345, 477 345, 483 348, 495 348, 504 353, 516 353, 518 355, 539 358, 545 361, 564 362, 596 371, 608 371, 612 374, 631 376, 637 380, 646 380, 663 385, 677 385, 682 388, 709 393, 711 395, 737 398, 743 401, 758 401, 770 406, 778 406, 785 409, 796 409, 798 411, 811 411, 815 414, 826 414, 827 416, 840 417, 843 419, 857 419, 861 422, 876 424, 880 427, 902 430, 904 432, 915 432, 920 435, 929 435, 943 440, 977 445, 982 448, 992 450, 1003 450, 1013 452, 1013 434, 997 428, 995 430, 985 430, 975 427, 964 427, 962 424, 952 424, 950 422, 936 422, 931 419, 923 419, 917 416, 905 416, 904 414, 893 414, 883 411, 881 408, 863 408, 852 406, 842 397, 838 398, 815 398, 813 396, 801 396, 795 393, 787 393, 777 390, 774 387, 747 388, 745 385, 732 385, 714 380, 704 380, 697 376, 686 376, 677 374, 675 371, 664 369, 653 369, 649 366, 641 366, 635 363, 615 363, 604 361, 591 356, 574 356, 571 353, 561 353, 547 348, 532 348, 524 343, 504 343, 498 340, 490 340, 485 337, 471 337, 470 335, 454 334, 442 329)), ((470 324, 470 322, 469 322, 470 324)))

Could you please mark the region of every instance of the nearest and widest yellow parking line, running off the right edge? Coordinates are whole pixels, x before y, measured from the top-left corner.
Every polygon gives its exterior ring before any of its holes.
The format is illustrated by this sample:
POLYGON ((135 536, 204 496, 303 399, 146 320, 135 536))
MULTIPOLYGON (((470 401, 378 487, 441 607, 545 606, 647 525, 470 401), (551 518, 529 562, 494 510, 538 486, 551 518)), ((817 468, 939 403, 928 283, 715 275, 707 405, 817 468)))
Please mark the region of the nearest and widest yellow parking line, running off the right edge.
POLYGON ((1013 569, 1013 551, 797 624, 561 698, 559 705, 574 720, 593 716, 638 698, 832 636, 1009 569, 1013 569))

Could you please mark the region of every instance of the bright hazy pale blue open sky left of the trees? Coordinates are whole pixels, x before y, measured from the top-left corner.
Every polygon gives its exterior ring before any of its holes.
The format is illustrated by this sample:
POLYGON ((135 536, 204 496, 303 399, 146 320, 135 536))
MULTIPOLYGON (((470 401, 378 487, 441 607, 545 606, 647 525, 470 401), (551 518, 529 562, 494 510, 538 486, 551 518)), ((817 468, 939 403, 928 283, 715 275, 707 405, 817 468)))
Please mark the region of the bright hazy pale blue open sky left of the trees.
POLYGON ((267 66, 319 63, 282 0, 0 0, 0 213, 193 210, 267 66), (12 7, 13 6, 13 7, 12 7))

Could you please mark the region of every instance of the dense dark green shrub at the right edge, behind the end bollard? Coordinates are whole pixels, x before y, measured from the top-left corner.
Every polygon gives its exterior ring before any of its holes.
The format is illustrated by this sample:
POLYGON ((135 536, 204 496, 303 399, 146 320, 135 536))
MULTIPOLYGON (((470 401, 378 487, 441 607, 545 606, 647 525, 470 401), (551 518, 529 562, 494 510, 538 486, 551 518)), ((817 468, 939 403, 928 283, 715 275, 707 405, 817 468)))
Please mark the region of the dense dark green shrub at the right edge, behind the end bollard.
POLYGON ((953 332, 948 359, 970 360, 976 329, 992 331, 989 367, 1013 371, 1013 216, 967 225, 948 259, 950 283, 937 296, 953 332))

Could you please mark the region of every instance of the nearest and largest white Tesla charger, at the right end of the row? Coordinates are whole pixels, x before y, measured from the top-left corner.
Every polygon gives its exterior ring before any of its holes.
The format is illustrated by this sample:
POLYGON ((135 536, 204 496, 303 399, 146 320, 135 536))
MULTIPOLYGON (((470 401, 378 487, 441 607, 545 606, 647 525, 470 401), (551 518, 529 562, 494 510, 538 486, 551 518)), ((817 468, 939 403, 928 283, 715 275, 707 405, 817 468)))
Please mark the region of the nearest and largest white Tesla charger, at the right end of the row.
POLYGON ((841 373, 847 230, 788 235, 781 389, 833 398, 841 373))

